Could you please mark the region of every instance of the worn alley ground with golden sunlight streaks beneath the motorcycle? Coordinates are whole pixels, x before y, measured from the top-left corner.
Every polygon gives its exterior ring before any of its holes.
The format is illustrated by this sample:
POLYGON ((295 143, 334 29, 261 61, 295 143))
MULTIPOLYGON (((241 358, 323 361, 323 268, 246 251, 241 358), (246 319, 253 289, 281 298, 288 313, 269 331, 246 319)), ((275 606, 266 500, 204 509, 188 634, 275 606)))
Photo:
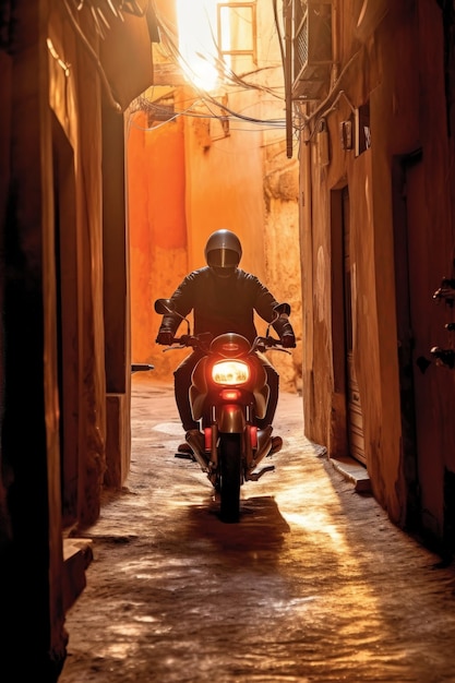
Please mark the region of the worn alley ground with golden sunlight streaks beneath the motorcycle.
POLYGON ((170 387, 133 376, 132 464, 86 536, 60 683, 455 682, 455 570, 395 528, 302 435, 282 395, 276 471, 217 516, 170 387))

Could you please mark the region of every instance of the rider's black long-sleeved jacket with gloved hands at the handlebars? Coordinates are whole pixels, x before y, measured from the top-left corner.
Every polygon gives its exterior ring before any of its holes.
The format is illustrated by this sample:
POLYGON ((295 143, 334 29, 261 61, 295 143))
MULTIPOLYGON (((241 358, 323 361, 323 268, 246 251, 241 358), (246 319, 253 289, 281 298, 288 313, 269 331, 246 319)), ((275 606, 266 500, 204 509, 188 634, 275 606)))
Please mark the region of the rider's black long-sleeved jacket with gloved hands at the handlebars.
MULTIPOLYGON (((266 322, 274 317, 276 299, 255 275, 237 268, 227 277, 217 277, 208 266, 193 271, 173 292, 175 310, 184 317, 193 311, 194 334, 211 332, 214 336, 236 332, 250 342, 256 336, 254 311, 266 322)), ((178 315, 165 315, 159 332, 173 335, 181 322, 178 315)), ((279 336, 292 333, 290 323, 278 319, 274 328, 279 336)))

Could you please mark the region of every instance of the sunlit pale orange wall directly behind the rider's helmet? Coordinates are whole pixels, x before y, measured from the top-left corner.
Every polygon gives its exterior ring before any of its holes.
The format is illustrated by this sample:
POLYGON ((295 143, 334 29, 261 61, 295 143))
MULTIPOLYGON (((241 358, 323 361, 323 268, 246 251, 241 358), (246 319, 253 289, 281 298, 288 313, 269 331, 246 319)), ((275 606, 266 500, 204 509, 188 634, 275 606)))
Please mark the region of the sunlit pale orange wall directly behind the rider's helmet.
MULTIPOLYGON (((228 96, 234 111, 251 110, 253 96, 228 96)), ((219 228, 234 230, 242 241, 241 267, 264 279, 264 201, 261 132, 236 132, 230 123, 225 136, 219 121, 185 119, 187 220, 190 261, 205 265, 207 237, 219 228)))

